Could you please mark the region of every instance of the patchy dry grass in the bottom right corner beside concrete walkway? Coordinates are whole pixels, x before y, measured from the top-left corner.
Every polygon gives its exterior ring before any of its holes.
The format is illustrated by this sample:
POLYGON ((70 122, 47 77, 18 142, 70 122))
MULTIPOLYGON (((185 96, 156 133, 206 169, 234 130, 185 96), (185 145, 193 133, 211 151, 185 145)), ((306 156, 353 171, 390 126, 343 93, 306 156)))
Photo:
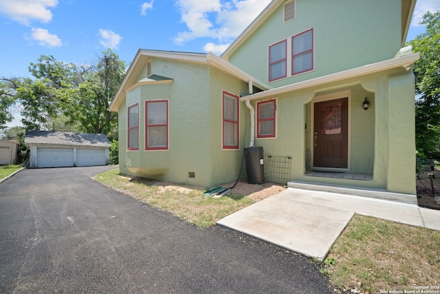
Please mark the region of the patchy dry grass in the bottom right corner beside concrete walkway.
POLYGON ((438 287, 440 232, 355 215, 319 266, 344 291, 411 293, 415 285, 438 287))

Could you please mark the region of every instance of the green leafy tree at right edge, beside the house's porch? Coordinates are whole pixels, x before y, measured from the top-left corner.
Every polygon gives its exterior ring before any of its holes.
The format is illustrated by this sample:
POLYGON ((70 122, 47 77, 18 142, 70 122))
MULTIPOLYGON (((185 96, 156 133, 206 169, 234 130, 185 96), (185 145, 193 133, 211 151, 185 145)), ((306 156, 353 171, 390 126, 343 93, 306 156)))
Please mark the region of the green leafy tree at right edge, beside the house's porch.
POLYGON ((409 42, 420 60, 415 63, 418 72, 415 103, 416 147, 419 154, 430 156, 440 145, 440 11, 427 12, 421 24, 426 32, 409 42))

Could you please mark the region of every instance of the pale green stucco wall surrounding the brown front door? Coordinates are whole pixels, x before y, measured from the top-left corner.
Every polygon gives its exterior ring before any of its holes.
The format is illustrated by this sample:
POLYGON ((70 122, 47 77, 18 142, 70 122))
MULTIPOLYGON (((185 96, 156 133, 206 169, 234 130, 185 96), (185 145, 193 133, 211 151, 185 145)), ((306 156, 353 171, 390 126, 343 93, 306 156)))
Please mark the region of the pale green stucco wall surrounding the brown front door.
MULTIPOLYGON (((414 75, 403 68, 329 83, 277 97, 276 138, 256 139, 265 156, 291 156, 290 180, 384 189, 415 194, 414 75), (349 169, 373 180, 306 176, 312 165, 312 102, 320 96, 350 93, 349 169), (362 109, 364 98, 371 103, 362 109), (306 126, 307 125, 307 126, 306 126), (310 161, 309 161, 310 160, 310 161)), ((256 103, 260 100, 252 101, 256 103)))

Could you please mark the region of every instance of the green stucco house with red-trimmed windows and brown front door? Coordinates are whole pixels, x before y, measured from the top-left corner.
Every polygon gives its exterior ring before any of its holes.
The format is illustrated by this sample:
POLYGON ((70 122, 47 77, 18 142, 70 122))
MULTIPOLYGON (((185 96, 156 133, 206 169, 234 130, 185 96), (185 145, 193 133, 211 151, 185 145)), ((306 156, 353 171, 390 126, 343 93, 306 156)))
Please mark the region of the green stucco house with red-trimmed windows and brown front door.
POLYGON ((289 185, 415 198, 414 7, 274 0, 221 56, 139 50, 109 108, 120 171, 214 187, 253 146, 289 185))

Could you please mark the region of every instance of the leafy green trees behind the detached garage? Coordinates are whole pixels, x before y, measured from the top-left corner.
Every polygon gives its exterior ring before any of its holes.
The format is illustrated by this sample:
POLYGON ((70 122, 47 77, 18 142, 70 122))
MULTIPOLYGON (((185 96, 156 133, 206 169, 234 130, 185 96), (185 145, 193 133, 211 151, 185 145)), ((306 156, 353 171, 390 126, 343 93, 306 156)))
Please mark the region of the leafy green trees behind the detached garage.
POLYGON ((21 105, 26 129, 74 130, 117 139, 118 116, 107 109, 125 74, 125 63, 110 49, 94 65, 40 56, 30 63, 34 78, 0 80, 0 127, 12 120, 11 105, 21 105))

